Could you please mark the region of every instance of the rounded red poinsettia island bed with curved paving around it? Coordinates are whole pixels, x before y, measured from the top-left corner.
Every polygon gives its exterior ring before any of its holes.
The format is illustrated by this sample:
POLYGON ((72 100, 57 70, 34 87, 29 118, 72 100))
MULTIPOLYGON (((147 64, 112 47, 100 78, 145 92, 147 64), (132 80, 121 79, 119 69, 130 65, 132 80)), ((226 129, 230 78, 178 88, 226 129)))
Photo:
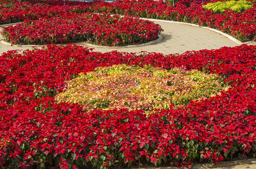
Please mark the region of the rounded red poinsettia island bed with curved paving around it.
POLYGON ((67 13, 56 17, 25 20, 3 28, 3 38, 13 44, 43 45, 88 41, 97 45, 122 46, 158 38, 160 25, 133 17, 108 14, 67 13))

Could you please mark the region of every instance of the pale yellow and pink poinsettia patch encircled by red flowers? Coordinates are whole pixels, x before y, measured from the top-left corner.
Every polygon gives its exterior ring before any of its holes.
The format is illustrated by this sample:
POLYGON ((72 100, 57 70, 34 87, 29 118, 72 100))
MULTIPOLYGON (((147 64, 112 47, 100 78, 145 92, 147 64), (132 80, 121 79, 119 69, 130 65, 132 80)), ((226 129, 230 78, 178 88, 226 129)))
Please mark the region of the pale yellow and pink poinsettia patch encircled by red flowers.
POLYGON ((85 109, 167 109, 171 104, 189 104, 190 100, 217 94, 223 90, 217 78, 199 70, 113 65, 80 73, 57 100, 81 103, 85 109))

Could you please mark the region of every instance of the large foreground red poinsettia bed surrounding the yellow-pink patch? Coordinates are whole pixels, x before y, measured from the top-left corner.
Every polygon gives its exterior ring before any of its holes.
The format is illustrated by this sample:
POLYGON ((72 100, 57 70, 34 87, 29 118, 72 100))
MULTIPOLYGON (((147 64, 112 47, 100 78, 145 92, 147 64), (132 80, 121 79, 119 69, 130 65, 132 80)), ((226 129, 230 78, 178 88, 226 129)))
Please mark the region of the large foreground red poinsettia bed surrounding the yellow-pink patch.
MULTIPOLYGON (((101 54, 88 48, 47 46, 0 57, 0 164, 80 168, 116 164, 219 162, 256 153, 256 47, 223 47, 181 55, 101 54), (177 108, 92 110, 55 103, 80 72, 114 64, 180 67, 216 73, 232 87, 177 108)), ((253 156, 254 157, 254 156, 253 156)))

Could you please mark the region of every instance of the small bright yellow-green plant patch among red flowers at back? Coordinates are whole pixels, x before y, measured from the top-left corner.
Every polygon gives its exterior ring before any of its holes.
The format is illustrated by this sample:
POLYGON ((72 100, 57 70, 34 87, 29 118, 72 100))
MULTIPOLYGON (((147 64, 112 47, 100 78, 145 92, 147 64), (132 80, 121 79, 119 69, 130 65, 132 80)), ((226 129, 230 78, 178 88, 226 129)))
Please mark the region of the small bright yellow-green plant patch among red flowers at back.
POLYGON ((207 3, 203 6, 204 10, 212 10, 215 14, 223 13, 225 10, 231 9, 235 12, 241 13, 253 7, 253 3, 248 1, 223 1, 215 3, 207 3))

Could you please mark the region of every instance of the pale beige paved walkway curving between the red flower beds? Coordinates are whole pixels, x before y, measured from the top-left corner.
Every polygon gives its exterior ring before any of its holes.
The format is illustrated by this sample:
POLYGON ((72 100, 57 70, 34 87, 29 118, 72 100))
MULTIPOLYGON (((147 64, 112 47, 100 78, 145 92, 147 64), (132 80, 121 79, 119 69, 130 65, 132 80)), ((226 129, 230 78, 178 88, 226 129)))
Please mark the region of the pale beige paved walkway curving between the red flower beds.
MULTIPOLYGON (((192 25, 177 24, 166 21, 155 21, 162 26, 164 31, 160 34, 163 39, 162 41, 155 43, 154 45, 147 45, 142 47, 94 47, 94 51, 99 52, 109 52, 113 50, 122 52, 160 52, 163 54, 175 54, 183 53, 185 51, 197 51, 203 49, 217 49, 223 46, 234 47, 240 44, 232 41, 226 36, 213 32, 212 30, 200 28, 192 25)), ((2 28, 0 28, 2 31, 2 28)), ((0 39, 2 39, 0 34, 0 39)), ((250 45, 256 45, 256 42, 249 43, 250 45)), ((92 47, 86 43, 77 43, 77 45, 92 47)), ((38 46, 40 47, 40 46, 38 46)), ((8 50, 25 50, 31 49, 31 46, 10 46, 0 43, 0 55, 8 50)), ((141 167, 140 167, 141 168, 141 167)), ((149 167, 150 168, 150 167, 149 167)), ((175 167, 153 167, 157 168, 175 168, 175 167)), ((256 169, 256 159, 246 159, 242 161, 232 161, 232 162, 220 162, 218 164, 197 164, 193 168, 251 168, 256 169)))

